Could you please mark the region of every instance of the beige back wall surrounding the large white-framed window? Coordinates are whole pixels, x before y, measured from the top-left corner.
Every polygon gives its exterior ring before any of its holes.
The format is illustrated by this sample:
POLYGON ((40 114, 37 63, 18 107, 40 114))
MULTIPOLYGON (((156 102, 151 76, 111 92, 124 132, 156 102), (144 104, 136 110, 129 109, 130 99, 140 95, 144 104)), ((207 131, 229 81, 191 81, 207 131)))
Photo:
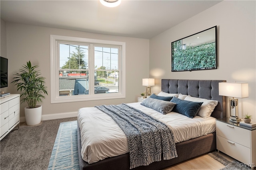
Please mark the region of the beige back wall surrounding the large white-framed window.
MULTIPOLYGON (((142 78, 148 77, 148 39, 110 36, 10 22, 6 22, 7 57, 9 59, 8 92, 12 94, 17 93, 14 84, 10 84, 12 78, 14 77, 13 74, 18 72, 18 69, 30 60, 33 65, 39 65, 42 76, 46 77, 46 86, 48 87, 48 92, 50 94, 51 34, 126 42, 126 98, 51 104, 50 95, 48 95, 42 104, 43 120, 49 118, 54 119, 68 117, 70 115, 76 116, 77 110, 81 107, 93 107, 102 104, 121 104, 137 101, 137 97, 140 96, 140 93, 144 90, 144 86, 142 86, 142 78)), ((24 121, 24 109, 22 108, 26 106, 27 104, 21 104, 20 106, 21 117, 23 117, 22 121, 24 121)))

